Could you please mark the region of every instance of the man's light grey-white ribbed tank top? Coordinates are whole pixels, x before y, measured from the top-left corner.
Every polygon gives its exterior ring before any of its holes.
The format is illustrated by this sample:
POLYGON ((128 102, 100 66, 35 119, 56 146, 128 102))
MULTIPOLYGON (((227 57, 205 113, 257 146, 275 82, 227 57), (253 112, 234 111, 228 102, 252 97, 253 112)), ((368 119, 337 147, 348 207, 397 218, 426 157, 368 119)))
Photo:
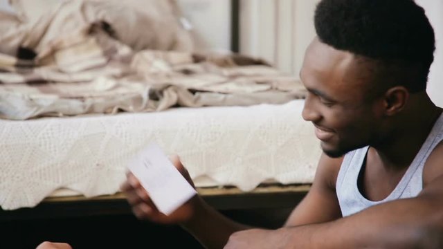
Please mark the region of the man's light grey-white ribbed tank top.
POLYGON ((423 189, 423 167, 426 159, 433 151, 435 146, 443 140, 443 113, 435 122, 431 133, 426 138, 422 148, 415 156, 413 163, 410 164, 403 178, 399 181, 395 189, 386 199, 381 201, 370 201, 361 195, 358 187, 359 173, 365 160, 369 147, 363 147, 350 151, 343 158, 340 171, 338 172, 336 193, 338 203, 340 203, 341 213, 344 216, 355 214, 372 205, 415 197, 423 189))

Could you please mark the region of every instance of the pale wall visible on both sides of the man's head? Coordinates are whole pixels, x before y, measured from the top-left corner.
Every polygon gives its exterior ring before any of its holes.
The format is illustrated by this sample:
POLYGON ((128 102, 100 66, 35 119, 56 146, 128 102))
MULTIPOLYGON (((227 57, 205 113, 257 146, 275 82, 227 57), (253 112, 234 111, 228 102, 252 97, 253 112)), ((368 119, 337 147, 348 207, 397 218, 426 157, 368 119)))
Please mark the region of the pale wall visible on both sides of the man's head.
MULTIPOLYGON (((443 0, 416 0, 426 11, 436 39, 428 94, 443 107, 443 0)), ((318 0, 240 0, 240 52, 262 57, 298 76, 305 49, 315 36, 318 0)))

